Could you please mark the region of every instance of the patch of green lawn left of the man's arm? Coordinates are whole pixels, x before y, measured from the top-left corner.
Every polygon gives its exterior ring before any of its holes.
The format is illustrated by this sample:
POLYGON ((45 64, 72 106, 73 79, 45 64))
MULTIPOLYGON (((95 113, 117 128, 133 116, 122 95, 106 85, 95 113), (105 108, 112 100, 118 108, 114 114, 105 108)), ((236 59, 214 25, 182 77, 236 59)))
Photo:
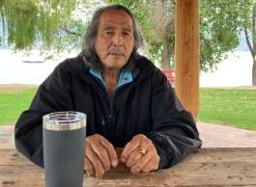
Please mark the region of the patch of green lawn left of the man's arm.
POLYGON ((25 89, 11 93, 0 92, 0 126, 14 124, 21 112, 27 110, 37 88, 25 89))

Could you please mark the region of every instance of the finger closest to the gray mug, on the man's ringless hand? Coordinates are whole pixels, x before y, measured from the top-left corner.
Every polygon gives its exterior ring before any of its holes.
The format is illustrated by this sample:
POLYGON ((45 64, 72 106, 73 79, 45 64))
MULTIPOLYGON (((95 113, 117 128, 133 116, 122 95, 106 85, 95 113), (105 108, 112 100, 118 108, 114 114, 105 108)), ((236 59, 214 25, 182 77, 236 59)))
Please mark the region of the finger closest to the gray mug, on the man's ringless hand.
POLYGON ((86 146, 86 156, 90 159, 90 161, 93 163, 94 166, 94 170, 96 173, 97 177, 101 177, 103 176, 103 174, 105 173, 104 168, 102 166, 102 163, 100 161, 100 158, 98 157, 98 155, 94 152, 94 150, 92 149, 91 145, 88 144, 86 146))

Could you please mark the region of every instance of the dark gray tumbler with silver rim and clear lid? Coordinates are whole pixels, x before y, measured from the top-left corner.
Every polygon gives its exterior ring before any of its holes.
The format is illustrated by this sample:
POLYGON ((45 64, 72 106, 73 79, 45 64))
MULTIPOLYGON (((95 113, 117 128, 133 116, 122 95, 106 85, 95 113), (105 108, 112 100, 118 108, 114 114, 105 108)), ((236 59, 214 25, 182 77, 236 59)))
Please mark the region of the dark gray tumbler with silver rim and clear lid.
POLYGON ((46 187, 82 187, 86 115, 57 112, 43 116, 46 187))

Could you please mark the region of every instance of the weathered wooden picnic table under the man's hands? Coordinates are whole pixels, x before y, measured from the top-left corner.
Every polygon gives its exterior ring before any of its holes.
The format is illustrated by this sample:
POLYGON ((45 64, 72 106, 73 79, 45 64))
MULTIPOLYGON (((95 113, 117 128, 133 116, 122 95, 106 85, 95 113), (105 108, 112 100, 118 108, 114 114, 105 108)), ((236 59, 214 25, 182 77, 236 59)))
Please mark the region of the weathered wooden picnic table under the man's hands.
MULTIPOLYGON (((14 148, 0 148, 1 187, 43 187, 43 169, 14 148)), ((84 187, 256 186, 256 148, 202 148, 171 169, 129 174, 121 165, 103 178, 84 175, 84 187)))

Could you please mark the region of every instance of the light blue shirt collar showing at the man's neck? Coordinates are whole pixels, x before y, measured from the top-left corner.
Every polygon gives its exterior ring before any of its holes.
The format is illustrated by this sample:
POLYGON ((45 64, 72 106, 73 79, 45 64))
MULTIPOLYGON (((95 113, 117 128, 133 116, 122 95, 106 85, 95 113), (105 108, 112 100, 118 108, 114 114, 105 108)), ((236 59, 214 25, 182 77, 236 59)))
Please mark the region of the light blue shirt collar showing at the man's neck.
MULTIPOLYGON (((100 80, 100 83, 104 86, 104 88, 107 90, 106 88, 106 83, 104 81, 104 79, 102 78, 100 69, 91 67, 89 72, 95 76, 96 78, 98 78, 100 80)), ((115 88, 115 91, 121 87, 123 87, 124 85, 132 82, 133 78, 132 78, 132 74, 131 74, 131 69, 129 67, 122 69, 120 75, 119 75, 119 80, 118 80, 118 84, 115 88)))

